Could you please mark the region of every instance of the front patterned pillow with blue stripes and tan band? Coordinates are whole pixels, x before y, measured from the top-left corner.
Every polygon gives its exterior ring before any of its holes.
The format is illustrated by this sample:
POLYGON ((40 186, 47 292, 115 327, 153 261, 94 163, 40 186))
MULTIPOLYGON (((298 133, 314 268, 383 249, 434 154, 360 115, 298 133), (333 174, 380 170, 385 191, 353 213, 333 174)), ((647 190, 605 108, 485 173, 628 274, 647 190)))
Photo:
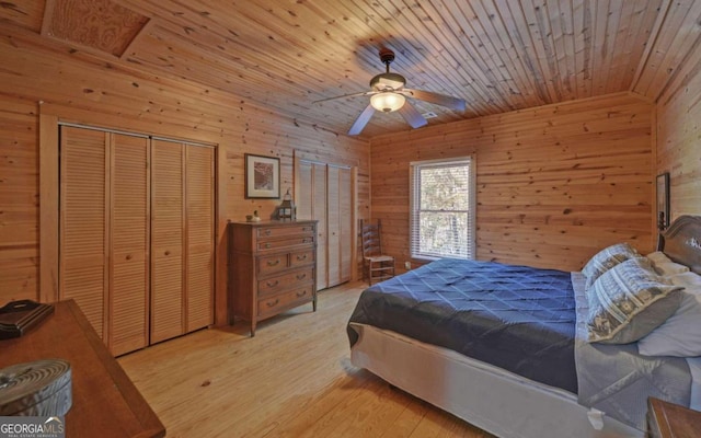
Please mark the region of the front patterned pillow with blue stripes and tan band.
POLYGON ((604 273, 587 289, 589 342, 628 344, 665 322, 679 307, 681 286, 631 258, 604 273))

